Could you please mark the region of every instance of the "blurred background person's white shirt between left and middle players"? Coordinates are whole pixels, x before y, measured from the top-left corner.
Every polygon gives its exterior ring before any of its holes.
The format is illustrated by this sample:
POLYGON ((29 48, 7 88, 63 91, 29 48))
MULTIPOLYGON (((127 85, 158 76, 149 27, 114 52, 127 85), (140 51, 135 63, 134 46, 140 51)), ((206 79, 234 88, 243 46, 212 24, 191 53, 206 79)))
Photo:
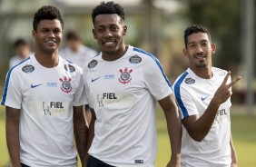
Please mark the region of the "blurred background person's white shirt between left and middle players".
POLYGON ((64 59, 84 68, 85 63, 94 58, 97 53, 94 49, 82 45, 77 52, 72 51, 69 47, 65 47, 59 54, 64 59))

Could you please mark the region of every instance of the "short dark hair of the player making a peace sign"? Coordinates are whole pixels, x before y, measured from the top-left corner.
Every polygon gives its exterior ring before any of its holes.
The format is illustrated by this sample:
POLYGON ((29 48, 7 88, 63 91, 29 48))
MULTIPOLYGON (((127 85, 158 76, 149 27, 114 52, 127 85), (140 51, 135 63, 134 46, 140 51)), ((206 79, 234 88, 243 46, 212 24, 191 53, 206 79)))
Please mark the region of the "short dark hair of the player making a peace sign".
POLYGON ((194 33, 206 33, 208 35, 209 41, 212 43, 211 34, 209 33, 206 27, 202 25, 191 25, 184 31, 184 43, 186 48, 188 46, 188 36, 194 33))

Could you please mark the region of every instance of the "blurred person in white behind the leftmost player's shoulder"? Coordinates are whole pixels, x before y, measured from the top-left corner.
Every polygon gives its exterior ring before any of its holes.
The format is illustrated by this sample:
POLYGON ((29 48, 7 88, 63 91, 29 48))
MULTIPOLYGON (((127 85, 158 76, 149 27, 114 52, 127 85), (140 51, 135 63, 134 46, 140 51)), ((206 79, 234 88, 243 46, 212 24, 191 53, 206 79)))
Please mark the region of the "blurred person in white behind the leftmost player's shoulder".
POLYGON ((15 41, 15 56, 9 61, 9 68, 21 63, 25 58, 29 57, 31 54, 30 46, 27 44, 25 39, 19 38, 15 41))

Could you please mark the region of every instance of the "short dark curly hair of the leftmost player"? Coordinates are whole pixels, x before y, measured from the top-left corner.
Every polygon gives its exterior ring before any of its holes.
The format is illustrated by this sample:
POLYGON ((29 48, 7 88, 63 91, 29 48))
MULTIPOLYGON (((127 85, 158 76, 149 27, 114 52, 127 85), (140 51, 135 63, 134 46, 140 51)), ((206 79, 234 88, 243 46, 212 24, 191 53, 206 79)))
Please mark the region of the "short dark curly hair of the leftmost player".
POLYGON ((34 14, 33 28, 36 31, 38 24, 42 20, 54 20, 57 19, 61 22, 62 28, 64 28, 64 21, 60 14, 60 11, 52 5, 44 5, 37 10, 34 14))

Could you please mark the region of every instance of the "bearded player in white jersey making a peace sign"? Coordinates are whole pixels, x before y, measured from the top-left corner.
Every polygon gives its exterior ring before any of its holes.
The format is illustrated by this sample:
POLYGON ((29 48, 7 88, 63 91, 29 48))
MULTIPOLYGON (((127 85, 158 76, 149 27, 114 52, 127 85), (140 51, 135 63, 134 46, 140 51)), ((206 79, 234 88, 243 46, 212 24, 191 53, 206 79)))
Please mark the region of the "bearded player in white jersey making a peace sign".
POLYGON ((182 167, 236 167, 231 137, 231 72, 212 66, 216 44, 202 25, 184 32, 190 66, 172 85, 182 117, 182 167))

